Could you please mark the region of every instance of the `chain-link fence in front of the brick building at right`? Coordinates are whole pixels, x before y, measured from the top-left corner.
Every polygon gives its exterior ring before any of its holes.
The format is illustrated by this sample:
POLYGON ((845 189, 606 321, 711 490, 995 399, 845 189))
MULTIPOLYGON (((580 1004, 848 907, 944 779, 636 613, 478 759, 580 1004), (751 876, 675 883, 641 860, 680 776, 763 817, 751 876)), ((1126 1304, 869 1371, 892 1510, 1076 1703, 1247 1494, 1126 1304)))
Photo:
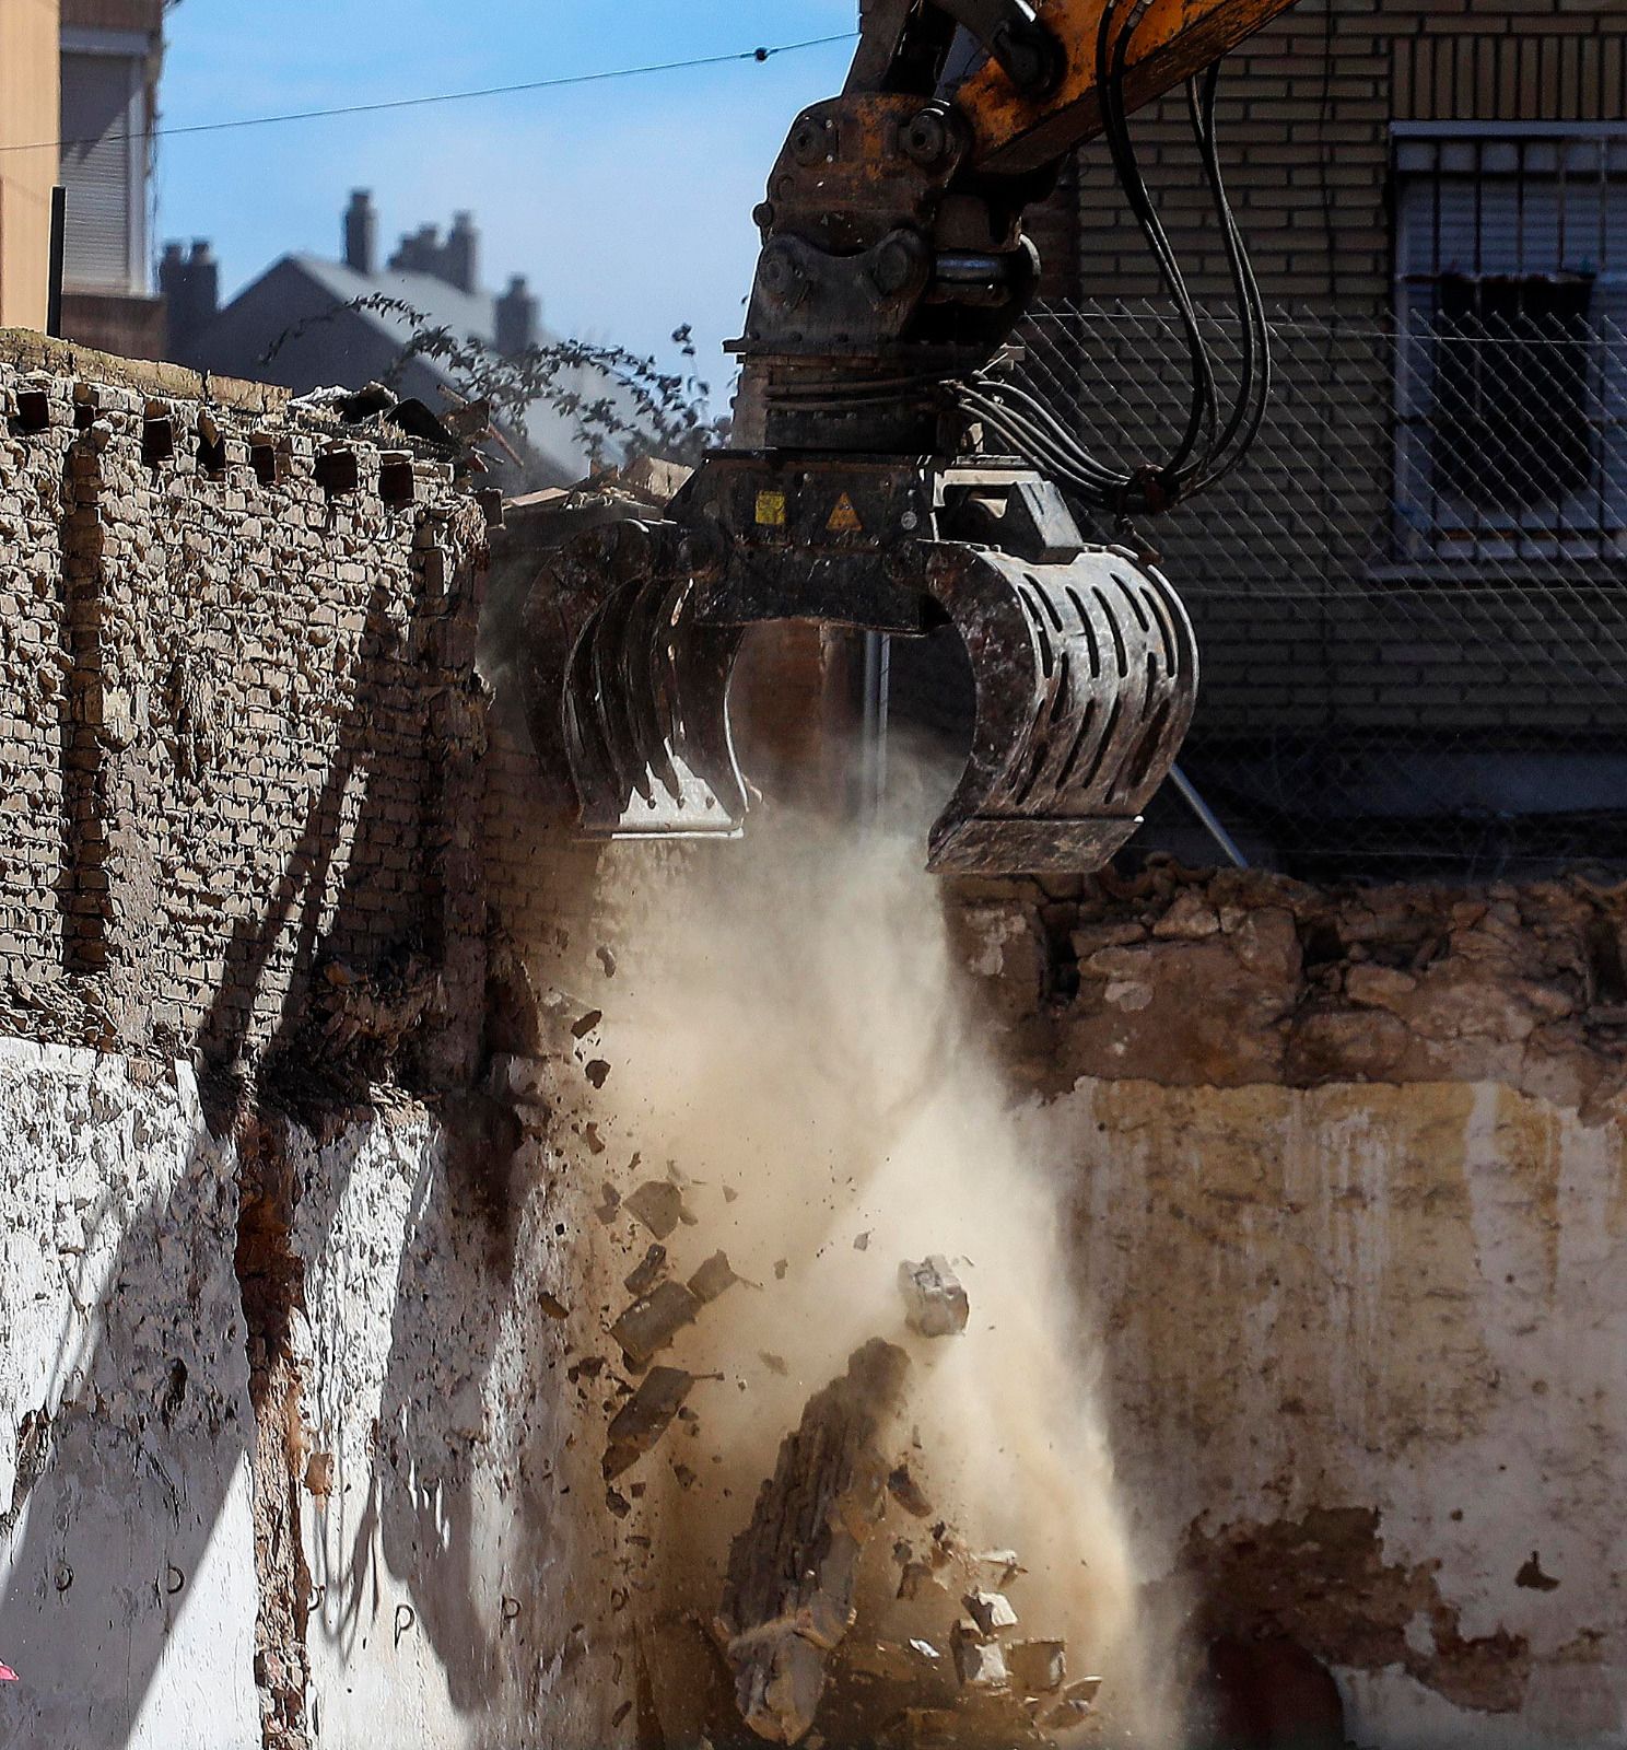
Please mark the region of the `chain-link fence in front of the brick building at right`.
MULTIPOLYGON (((1272 331, 1247 460, 1137 530, 1198 632, 1186 777, 1251 861, 1305 875, 1627 866, 1627 331, 1272 331)), ((1092 450, 1169 452, 1190 373, 1167 313, 1051 306, 1018 338, 1092 450)), ((1237 336, 1211 340, 1225 392, 1237 336)), ((1170 802, 1149 836, 1190 822, 1170 802)))

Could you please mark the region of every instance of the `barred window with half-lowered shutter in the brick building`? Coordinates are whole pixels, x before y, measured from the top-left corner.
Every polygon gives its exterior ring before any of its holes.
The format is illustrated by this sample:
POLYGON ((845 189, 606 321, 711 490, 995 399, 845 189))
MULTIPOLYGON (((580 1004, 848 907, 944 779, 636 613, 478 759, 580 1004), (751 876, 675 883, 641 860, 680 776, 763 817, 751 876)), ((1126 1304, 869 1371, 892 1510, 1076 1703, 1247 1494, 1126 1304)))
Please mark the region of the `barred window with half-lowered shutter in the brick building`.
POLYGON ((1403 556, 1627 555, 1627 124, 1394 128, 1403 556))

